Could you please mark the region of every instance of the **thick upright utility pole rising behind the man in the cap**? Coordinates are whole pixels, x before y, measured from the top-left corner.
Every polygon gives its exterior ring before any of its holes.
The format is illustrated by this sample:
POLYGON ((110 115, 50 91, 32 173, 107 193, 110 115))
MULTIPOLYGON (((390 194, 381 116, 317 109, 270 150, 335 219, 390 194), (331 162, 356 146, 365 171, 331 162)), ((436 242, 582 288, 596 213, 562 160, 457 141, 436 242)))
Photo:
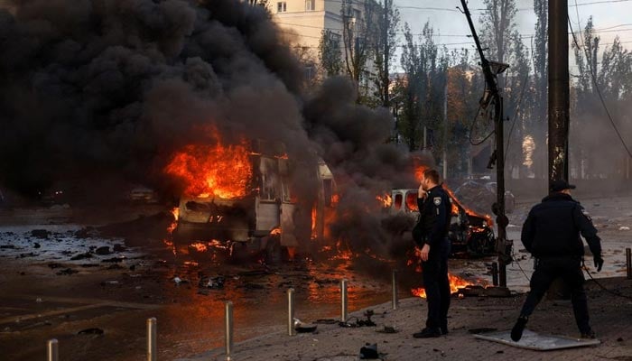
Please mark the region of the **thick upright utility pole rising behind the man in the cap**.
POLYGON ((568 0, 549 0, 549 186, 569 180, 568 0))

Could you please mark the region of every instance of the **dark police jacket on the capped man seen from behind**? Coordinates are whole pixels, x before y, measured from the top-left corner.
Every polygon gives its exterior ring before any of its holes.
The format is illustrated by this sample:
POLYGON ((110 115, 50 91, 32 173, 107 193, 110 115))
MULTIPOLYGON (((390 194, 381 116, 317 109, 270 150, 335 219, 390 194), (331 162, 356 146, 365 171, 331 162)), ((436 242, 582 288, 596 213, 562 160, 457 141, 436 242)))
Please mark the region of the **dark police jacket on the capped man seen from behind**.
POLYGON ((601 255, 597 229, 581 207, 568 194, 552 193, 531 208, 522 227, 522 243, 535 257, 579 256, 584 254, 584 236, 592 255, 601 255))

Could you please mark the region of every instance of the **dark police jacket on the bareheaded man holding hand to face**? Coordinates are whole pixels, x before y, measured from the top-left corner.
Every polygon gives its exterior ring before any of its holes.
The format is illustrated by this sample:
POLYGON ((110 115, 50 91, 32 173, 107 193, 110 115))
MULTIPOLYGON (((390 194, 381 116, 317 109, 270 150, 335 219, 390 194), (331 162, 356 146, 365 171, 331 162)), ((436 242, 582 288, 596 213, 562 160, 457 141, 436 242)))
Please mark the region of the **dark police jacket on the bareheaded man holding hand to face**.
POLYGON ((451 203, 448 194, 438 185, 428 190, 425 199, 417 199, 419 207, 419 222, 413 229, 414 242, 430 248, 444 245, 450 227, 451 203))

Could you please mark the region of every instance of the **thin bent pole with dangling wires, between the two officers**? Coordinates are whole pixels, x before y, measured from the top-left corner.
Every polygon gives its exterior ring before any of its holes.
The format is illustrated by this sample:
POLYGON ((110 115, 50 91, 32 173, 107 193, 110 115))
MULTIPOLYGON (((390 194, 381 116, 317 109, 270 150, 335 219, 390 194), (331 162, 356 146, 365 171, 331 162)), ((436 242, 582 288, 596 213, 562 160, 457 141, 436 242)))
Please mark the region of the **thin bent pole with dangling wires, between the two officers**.
MULTIPOLYGON (((553 1, 553 0, 551 0, 553 1)), ((497 75, 505 71, 507 64, 490 61, 485 58, 483 48, 480 46, 479 35, 474 28, 471 14, 469 14, 466 0, 460 0, 463 6, 463 13, 468 18, 469 30, 472 32, 474 42, 479 51, 480 66, 483 68, 485 83, 488 92, 481 99, 481 107, 485 108, 493 103, 494 105, 494 133, 496 150, 489 159, 489 166, 496 163, 497 200, 492 206, 492 211, 496 214, 496 224, 498 227, 498 237, 496 251, 498 253, 498 275, 499 286, 507 288, 507 264, 511 262, 511 241, 507 240, 507 225, 509 219, 505 215, 505 127, 503 125, 503 97, 500 96, 497 85, 497 75)))

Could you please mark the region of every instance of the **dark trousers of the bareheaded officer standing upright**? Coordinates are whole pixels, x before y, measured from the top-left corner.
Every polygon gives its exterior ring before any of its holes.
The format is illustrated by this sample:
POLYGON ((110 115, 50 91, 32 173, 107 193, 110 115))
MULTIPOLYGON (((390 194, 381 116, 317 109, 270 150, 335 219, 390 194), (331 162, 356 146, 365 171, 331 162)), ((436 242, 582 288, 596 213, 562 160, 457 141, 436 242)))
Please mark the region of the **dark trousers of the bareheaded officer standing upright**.
POLYGON ((428 261, 422 262, 423 287, 428 301, 426 327, 430 329, 448 327, 450 309, 450 280, 448 279, 448 255, 450 245, 439 249, 430 248, 428 261))

